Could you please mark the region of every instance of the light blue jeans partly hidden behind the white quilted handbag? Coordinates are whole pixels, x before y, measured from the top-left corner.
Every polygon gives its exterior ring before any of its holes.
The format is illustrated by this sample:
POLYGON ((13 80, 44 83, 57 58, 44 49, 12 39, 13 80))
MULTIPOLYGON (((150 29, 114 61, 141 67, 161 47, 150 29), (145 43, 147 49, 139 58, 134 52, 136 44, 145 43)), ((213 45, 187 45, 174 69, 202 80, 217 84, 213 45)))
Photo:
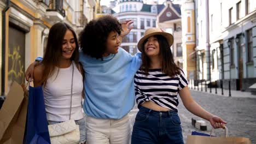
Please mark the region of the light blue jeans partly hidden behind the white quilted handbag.
MULTIPOLYGON (((56 124, 61 122, 56 121, 48 121, 49 124, 56 124)), ((85 128, 85 121, 84 118, 75 120, 75 124, 79 125, 79 131, 80 131, 80 141, 79 143, 84 143, 86 141, 86 128, 85 128)))

